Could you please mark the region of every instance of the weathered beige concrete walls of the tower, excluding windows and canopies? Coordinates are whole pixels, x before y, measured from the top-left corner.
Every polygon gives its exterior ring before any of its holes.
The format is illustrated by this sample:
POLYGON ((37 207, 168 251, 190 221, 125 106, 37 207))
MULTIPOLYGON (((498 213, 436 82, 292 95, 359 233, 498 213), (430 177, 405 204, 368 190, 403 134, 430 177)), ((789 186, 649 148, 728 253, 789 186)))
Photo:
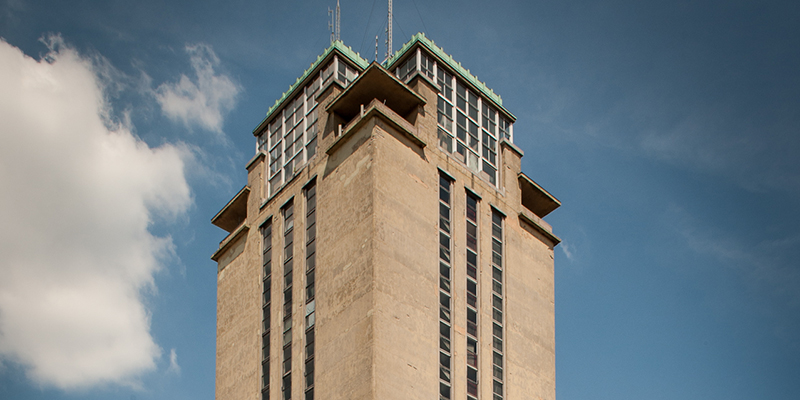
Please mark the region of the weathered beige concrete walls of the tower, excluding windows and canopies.
MULTIPOLYGON (((496 188, 437 146, 436 89, 411 118, 421 148, 381 118, 351 133, 332 155, 338 121, 326 121, 315 159, 269 203, 266 162, 249 167, 251 227, 240 255, 218 276, 216 397, 260 398, 261 244, 258 226, 273 218, 271 394, 280 396, 283 228, 280 206, 294 198, 293 391, 303 398, 305 200, 317 179, 317 399, 431 399, 439 382, 438 169, 455 178, 452 200, 453 399, 466 398, 467 189, 479 202, 479 388, 492 398, 491 207, 504 220, 505 398, 555 399, 553 252, 548 239, 518 218, 520 154, 501 146, 496 188), (277 339, 276 339, 277 338, 277 339)), ((332 87, 319 107, 339 92, 332 87)), ((324 108, 323 108, 324 109, 324 108)), ((236 248, 232 246, 231 248, 236 248)), ((227 259, 226 259, 227 260, 227 259)))

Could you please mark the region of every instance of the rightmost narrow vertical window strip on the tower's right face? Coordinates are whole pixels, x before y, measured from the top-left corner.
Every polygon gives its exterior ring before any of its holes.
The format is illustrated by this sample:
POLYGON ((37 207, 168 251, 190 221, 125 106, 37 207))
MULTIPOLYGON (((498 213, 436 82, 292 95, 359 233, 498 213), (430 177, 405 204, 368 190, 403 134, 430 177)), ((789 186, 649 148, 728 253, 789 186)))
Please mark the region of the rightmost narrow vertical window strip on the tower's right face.
POLYGON ((492 210, 492 393, 503 400, 503 216, 492 210))

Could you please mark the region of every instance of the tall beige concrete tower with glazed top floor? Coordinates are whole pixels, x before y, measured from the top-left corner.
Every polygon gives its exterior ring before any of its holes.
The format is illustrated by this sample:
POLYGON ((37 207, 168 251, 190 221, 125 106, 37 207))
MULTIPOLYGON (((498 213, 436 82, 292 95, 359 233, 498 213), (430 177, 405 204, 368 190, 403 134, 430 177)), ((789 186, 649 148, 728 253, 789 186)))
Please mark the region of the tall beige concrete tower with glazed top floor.
POLYGON ((555 399, 560 203, 514 121, 422 34, 383 65, 325 50, 212 219, 216 398, 555 399))

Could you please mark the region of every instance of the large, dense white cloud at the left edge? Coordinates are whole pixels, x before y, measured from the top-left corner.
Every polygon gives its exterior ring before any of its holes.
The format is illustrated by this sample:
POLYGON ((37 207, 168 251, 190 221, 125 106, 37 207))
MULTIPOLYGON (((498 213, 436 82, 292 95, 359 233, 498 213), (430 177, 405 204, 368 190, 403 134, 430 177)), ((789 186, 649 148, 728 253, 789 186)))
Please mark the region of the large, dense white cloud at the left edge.
POLYGON ((144 292, 173 254, 148 227, 191 203, 184 150, 109 122, 98 66, 0 41, 0 359, 61 389, 136 385, 161 349, 144 292))

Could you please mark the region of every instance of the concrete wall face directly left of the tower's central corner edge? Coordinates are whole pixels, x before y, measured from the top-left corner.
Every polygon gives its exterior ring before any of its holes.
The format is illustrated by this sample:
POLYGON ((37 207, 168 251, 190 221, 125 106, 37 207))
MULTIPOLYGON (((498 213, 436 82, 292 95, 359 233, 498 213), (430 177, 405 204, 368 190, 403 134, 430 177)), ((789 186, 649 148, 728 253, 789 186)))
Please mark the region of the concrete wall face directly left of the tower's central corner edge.
POLYGON ((328 158, 317 192, 320 399, 374 398, 375 146, 368 133, 328 158))

